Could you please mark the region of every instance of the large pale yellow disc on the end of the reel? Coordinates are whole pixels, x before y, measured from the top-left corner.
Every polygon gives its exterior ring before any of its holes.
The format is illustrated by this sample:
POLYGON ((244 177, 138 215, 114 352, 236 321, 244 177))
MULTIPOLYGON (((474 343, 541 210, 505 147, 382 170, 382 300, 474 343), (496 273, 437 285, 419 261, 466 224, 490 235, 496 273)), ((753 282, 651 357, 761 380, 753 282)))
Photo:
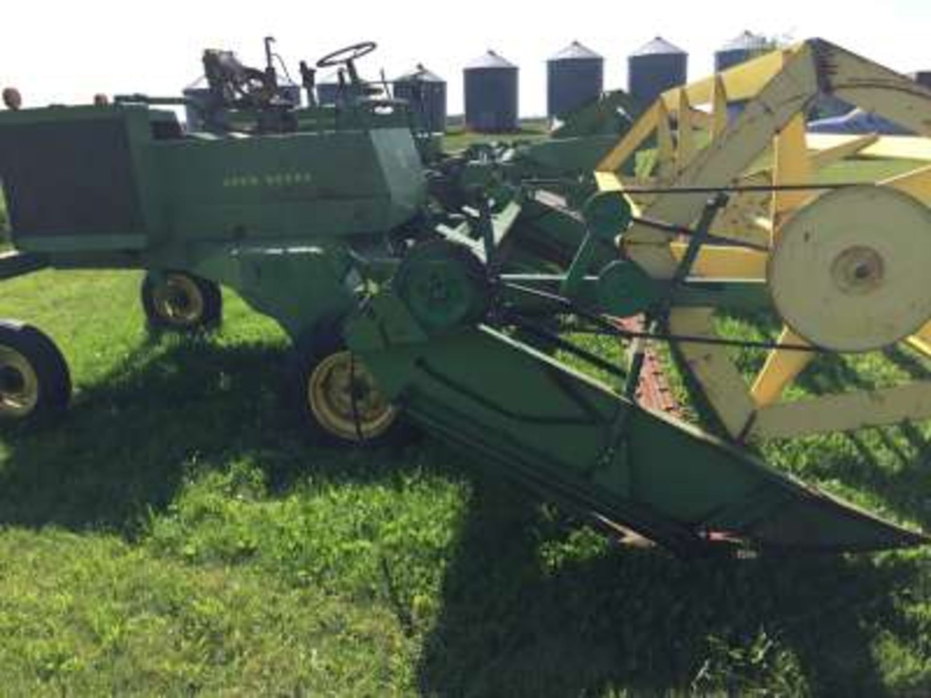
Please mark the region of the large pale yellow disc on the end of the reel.
POLYGON ((931 321, 931 210, 877 186, 823 195, 782 228, 768 266, 776 311, 838 352, 881 349, 931 321))

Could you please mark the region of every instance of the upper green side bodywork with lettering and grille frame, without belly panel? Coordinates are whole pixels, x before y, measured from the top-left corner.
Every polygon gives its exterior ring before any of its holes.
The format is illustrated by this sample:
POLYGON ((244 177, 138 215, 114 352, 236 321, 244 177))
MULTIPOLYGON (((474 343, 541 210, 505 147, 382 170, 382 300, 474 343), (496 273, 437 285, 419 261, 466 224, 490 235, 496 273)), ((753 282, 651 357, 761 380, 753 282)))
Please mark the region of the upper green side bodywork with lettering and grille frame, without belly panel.
MULTIPOLYGON (((125 137, 128 195, 139 201, 136 229, 41 238, 14 229, 18 247, 54 251, 60 239, 62 252, 74 252, 84 240, 97 251, 108 239, 111 249, 144 249, 167 242, 374 234, 424 205, 424 170, 406 128, 156 140, 153 122, 160 114, 137 105, 0 114, 0 131, 20 126, 37 135, 38 128, 79 122, 115 126, 118 132, 105 134, 106 140, 125 137)), ((75 196, 88 194, 80 182, 67 183, 75 196)), ((99 200, 88 207, 107 207, 102 191, 90 194, 99 200)))

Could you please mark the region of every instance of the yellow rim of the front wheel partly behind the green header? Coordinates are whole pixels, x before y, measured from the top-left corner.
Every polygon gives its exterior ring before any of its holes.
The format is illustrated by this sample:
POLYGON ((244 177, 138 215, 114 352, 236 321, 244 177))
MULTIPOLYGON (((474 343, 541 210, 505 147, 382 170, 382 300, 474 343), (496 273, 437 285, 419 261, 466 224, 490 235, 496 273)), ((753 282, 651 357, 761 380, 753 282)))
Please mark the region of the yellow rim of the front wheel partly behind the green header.
POLYGON ((311 371, 307 401, 317 423, 349 441, 381 436, 398 419, 369 369, 348 351, 327 356, 311 371))

